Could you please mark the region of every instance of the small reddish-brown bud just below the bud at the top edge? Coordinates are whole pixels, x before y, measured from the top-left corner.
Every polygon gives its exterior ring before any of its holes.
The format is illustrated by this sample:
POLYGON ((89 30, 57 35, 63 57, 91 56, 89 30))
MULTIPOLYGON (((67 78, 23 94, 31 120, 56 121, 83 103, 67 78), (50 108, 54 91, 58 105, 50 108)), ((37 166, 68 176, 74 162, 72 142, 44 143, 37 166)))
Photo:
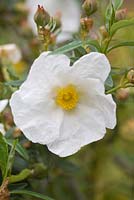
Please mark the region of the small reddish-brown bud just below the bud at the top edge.
POLYGON ((91 28, 93 27, 93 19, 85 17, 85 18, 81 18, 81 28, 87 32, 89 32, 91 30, 91 28))

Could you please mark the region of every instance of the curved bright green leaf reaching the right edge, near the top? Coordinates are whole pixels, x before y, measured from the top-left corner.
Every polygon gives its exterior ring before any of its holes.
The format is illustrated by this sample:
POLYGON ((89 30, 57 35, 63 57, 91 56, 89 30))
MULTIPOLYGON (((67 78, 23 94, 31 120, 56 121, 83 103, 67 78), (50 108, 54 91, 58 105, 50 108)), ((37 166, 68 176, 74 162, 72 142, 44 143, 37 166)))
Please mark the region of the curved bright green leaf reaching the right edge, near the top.
POLYGON ((116 31, 118 31, 119 29, 127 27, 127 26, 132 26, 132 25, 134 25, 134 18, 116 22, 112 25, 110 29, 110 35, 113 36, 116 33, 116 31))

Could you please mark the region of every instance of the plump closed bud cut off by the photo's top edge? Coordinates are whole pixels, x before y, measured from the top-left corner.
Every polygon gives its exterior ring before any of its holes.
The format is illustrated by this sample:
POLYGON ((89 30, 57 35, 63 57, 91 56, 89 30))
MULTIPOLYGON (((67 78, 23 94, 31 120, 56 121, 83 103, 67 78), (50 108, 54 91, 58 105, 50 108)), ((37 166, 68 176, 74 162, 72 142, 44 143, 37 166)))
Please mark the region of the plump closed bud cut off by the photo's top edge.
POLYGON ((90 16, 97 10, 97 1, 96 0, 85 0, 85 2, 82 5, 82 8, 84 9, 87 16, 90 16))

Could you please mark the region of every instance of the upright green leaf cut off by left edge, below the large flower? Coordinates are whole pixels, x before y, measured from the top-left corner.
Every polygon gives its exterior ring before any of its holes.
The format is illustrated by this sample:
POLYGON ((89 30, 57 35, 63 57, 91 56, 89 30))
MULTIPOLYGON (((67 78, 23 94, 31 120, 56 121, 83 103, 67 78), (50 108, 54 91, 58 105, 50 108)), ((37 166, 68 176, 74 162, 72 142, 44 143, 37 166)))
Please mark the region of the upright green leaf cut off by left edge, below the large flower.
POLYGON ((3 177, 6 171, 7 160, 8 160, 8 146, 6 144, 5 138, 0 133, 0 168, 3 177))

